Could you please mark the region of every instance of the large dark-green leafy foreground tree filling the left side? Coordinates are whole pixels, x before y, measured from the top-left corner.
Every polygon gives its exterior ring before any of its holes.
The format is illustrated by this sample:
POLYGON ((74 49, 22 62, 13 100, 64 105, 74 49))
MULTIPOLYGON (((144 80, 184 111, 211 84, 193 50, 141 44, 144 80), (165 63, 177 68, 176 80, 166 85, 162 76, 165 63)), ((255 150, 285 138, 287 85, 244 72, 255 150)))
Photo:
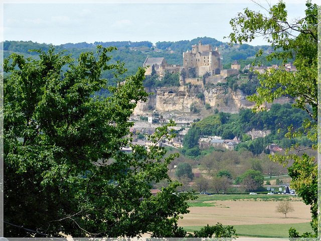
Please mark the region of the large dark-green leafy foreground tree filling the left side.
POLYGON ((53 48, 37 51, 39 60, 5 59, 5 236, 186 235, 177 220, 193 197, 172 195, 180 184, 171 182, 167 166, 177 155, 164 158, 157 146, 174 137, 174 123, 147 137, 154 143, 149 152, 131 143, 128 119, 148 96, 144 69, 122 77, 123 64, 107 64, 114 49, 97 46, 76 63, 53 48), (111 96, 97 98, 94 92, 107 84, 103 70, 118 81, 111 96), (126 146, 131 154, 121 151, 126 146), (161 180, 171 183, 154 197, 150 183, 161 180))

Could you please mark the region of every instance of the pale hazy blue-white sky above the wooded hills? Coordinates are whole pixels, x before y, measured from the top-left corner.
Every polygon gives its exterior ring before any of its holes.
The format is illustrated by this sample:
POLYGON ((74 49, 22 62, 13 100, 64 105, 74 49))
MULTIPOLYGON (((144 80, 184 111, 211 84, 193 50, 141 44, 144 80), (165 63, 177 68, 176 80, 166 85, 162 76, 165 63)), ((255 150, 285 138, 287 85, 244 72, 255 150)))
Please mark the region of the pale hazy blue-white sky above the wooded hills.
MULTIPOLYGON (((110 41, 192 40, 228 42, 229 21, 246 7, 266 13, 252 1, 163 0, 0 0, 3 39, 60 45, 110 41), (3 11, 3 13, 1 13, 3 11)), ((272 0, 257 0, 263 7, 272 0)), ((305 1, 284 1, 290 19, 304 16, 305 1), (289 4, 291 2, 291 4, 289 4)), ((312 1, 314 3, 315 1, 312 1)), ((267 44, 257 39, 252 45, 267 44)))

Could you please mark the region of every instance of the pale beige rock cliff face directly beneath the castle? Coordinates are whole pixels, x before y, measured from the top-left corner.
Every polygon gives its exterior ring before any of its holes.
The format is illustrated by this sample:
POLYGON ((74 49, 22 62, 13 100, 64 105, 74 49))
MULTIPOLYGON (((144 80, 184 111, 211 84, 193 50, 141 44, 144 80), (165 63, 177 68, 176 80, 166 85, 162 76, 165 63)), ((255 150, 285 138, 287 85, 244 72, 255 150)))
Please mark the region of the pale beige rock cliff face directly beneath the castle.
POLYGON ((197 109, 205 108, 206 104, 219 111, 237 113, 240 108, 252 108, 254 103, 246 99, 246 95, 237 90, 216 86, 205 88, 197 85, 181 85, 179 87, 162 87, 149 89, 154 94, 148 97, 146 102, 138 103, 134 114, 144 114, 146 111, 155 109, 159 112, 180 111, 190 112, 192 104, 197 109))

